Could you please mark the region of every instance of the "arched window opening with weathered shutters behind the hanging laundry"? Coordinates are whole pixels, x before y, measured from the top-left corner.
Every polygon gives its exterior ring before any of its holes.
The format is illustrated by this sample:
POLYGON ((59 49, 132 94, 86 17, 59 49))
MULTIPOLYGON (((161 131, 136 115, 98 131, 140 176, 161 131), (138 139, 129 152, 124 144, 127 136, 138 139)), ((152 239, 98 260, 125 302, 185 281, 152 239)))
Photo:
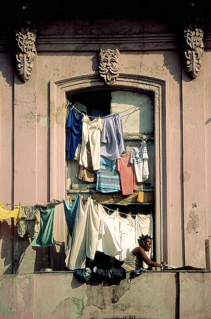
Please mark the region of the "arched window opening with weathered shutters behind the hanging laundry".
MULTIPOLYGON (((67 159, 67 195, 72 197, 76 193, 85 193, 92 199, 102 203, 105 207, 119 209, 120 216, 151 214, 153 219, 153 260, 156 256, 155 243, 155 149, 154 149, 154 98, 149 93, 140 93, 127 90, 92 90, 67 96, 67 100, 82 113, 103 117, 110 114, 120 113, 122 118, 123 137, 127 151, 134 147, 140 147, 145 140, 148 152, 149 178, 145 182, 137 183, 139 193, 135 192, 126 199, 120 193, 99 193, 96 191, 96 182, 86 183, 76 177, 78 161, 67 159), (139 202, 137 197, 139 194, 139 202)), ((77 110, 74 109, 77 115, 77 110)), ((69 109, 67 110, 68 116, 69 109)), ((80 115, 80 113, 78 113, 80 115)), ((93 120, 93 118, 90 118, 93 120)), ((80 142, 79 142, 80 143, 80 142)), ((89 145, 87 145, 89 150, 89 145)), ((74 200, 72 200, 72 204, 74 200)), ((133 216, 135 218, 135 216, 133 216)), ((141 234, 140 234, 141 235, 141 234)), ((68 242, 68 238, 67 238, 68 242)), ((138 245, 138 244, 137 244, 138 245)), ((121 263, 112 260, 110 256, 97 252, 94 261, 86 260, 86 266, 106 269, 111 266, 119 268, 121 263)))

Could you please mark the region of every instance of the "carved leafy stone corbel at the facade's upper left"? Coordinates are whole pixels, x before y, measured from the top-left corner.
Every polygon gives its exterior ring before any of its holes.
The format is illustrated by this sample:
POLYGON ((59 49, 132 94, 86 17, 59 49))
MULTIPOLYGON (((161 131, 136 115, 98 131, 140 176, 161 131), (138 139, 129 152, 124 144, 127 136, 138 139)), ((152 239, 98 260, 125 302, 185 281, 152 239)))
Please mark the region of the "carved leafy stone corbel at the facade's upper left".
POLYGON ((23 82, 26 82, 33 69, 37 32, 33 8, 24 4, 19 10, 19 17, 22 20, 18 22, 15 32, 15 60, 18 75, 23 82))

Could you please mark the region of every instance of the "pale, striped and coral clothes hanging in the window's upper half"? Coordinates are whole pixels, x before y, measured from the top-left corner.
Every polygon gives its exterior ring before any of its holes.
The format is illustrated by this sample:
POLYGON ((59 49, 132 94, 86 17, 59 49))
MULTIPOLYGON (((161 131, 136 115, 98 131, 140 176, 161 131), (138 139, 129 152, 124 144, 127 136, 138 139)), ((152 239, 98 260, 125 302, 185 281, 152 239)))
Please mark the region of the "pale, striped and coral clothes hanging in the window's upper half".
MULTIPOLYGON (((69 117, 72 116, 72 107, 69 110, 69 117), (71 112, 70 112, 71 111, 71 112)), ((81 114, 82 115, 82 114, 81 114)), ((67 136, 69 139, 69 135, 67 136)), ((96 190, 103 193, 112 193, 122 191, 123 195, 130 195, 137 190, 137 181, 144 182, 149 178, 148 154, 146 143, 142 141, 140 148, 133 148, 130 152, 128 161, 125 160, 123 153, 126 152, 126 147, 123 138, 122 121, 120 114, 111 114, 102 118, 94 118, 91 121, 88 115, 82 118, 82 146, 80 156, 76 154, 79 159, 78 172, 76 176, 84 182, 95 182, 94 171, 97 172, 97 187, 96 190), (87 142, 90 143, 91 162, 88 162, 87 142), (111 174, 106 168, 102 168, 106 164, 103 163, 108 160, 117 160, 116 171, 120 175, 120 189, 118 187, 112 188, 111 174), (131 164, 131 168, 130 165, 131 164), (101 170, 100 170, 101 166, 101 170), (132 174, 131 174, 132 171, 132 174), (129 173, 129 183, 127 179, 129 173), (133 175, 133 176, 132 176, 133 175), (133 177, 133 186, 131 184, 133 177), (110 180, 110 182, 109 182, 110 180), (102 183, 101 183, 102 182, 102 183), (103 184, 103 182, 105 182, 103 184), (102 184, 102 185, 101 185, 102 184), (102 187, 101 187, 102 186, 102 187)), ((75 158, 75 156, 74 156, 75 158)), ((115 178, 115 182, 117 179, 115 178)), ((115 183, 114 182, 114 183, 115 183)))

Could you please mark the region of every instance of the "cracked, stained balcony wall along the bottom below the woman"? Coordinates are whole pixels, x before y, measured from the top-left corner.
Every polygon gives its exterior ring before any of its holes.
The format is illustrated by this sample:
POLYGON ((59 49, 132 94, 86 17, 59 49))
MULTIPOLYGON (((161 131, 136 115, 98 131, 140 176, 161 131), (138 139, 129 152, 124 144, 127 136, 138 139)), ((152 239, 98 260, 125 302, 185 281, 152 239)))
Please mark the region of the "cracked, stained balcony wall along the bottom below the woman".
POLYGON ((210 271, 148 271, 113 282, 72 272, 0 277, 1 319, 208 319, 210 271))

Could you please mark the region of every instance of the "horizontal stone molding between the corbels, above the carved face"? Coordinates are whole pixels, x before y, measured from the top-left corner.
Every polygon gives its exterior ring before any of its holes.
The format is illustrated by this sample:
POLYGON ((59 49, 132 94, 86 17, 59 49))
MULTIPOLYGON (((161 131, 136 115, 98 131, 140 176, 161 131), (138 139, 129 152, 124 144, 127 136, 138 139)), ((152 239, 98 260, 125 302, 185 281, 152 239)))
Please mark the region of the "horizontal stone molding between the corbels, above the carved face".
MULTIPOLYGON (((36 51, 99 51, 102 46, 108 47, 115 44, 119 50, 137 51, 137 50, 172 50, 178 49, 178 37, 176 34, 148 34, 131 36, 101 36, 98 39, 90 36, 72 36, 65 35, 39 35, 36 39, 36 51), (81 45, 85 44, 82 48, 81 45), (80 48, 78 47, 80 45, 80 48)), ((211 33, 206 33, 204 37, 204 48, 211 48, 211 33)), ((9 40, 6 37, 0 37, 0 51, 9 52, 9 40)))

